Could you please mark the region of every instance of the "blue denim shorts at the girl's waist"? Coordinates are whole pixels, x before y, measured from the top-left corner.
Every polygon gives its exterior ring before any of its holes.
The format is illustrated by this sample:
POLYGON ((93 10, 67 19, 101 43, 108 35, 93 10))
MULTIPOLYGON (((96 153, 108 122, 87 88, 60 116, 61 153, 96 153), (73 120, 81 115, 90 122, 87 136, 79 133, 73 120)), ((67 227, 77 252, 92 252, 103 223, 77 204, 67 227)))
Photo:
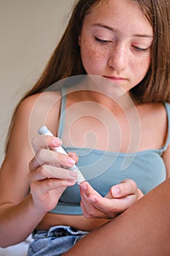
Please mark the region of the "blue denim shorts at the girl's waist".
POLYGON ((63 225, 50 227, 45 231, 35 231, 34 241, 28 247, 28 256, 62 255, 87 234, 88 232, 63 225))

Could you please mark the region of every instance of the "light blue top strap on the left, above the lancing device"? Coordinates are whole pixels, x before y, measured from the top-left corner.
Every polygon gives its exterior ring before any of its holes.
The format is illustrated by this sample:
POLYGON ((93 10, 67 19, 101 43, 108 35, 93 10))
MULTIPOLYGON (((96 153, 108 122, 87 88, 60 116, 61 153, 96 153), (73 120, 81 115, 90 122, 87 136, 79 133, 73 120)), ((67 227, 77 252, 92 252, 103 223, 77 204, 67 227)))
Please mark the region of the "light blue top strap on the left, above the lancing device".
POLYGON ((58 121, 58 138, 62 138, 66 113, 66 88, 61 88, 61 113, 58 121))

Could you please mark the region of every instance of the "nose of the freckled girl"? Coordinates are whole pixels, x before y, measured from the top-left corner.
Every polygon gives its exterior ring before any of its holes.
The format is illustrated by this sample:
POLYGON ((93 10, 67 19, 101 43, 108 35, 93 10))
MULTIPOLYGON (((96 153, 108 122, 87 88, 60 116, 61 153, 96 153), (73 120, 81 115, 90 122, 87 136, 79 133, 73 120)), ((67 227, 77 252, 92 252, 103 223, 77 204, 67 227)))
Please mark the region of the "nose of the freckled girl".
POLYGON ((123 46, 115 47, 115 49, 112 49, 109 53, 107 64, 117 71, 125 69, 128 64, 128 50, 123 46))

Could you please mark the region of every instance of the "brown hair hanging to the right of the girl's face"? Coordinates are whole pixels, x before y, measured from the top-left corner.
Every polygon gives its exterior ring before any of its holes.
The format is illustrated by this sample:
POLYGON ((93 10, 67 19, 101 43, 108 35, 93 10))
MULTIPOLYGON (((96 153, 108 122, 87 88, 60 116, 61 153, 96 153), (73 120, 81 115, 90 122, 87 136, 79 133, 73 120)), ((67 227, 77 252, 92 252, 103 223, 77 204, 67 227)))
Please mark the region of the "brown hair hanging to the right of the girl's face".
POLYGON ((132 0, 150 22, 154 40, 147 75, 131 89, 138 102, 170 102, 170 1, 132 0))

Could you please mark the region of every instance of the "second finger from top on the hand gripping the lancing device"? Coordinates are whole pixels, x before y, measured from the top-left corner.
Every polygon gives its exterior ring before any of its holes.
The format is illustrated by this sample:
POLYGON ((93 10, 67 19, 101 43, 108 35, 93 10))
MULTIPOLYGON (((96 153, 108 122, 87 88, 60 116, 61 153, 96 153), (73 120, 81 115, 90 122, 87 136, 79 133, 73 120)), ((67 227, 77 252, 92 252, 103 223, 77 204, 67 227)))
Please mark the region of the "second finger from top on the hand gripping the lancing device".
POLYGON ((55 166, 65 166, 72 167, 75 164, 75 160, 72 157, 67 156, 66 154, 61 154, 50 149, 42 148, 37 151, 34 159, 31 160, 29 164, 30 170, 36 169, 40 165, 55 165, 55 166))

